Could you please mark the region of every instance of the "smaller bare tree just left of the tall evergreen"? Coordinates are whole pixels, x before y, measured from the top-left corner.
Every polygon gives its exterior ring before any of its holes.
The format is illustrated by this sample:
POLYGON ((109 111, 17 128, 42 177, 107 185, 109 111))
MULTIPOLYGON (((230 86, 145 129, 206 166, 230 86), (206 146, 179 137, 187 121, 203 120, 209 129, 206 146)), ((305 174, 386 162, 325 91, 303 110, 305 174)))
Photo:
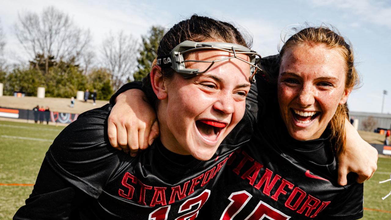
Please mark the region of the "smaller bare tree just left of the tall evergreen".
POLYGON ((113 89, 120 88, 137 66, 138 44, 131 35, 127 36, 120 31, 117 36, 110 32, 102 43, 102 63, 111 71, 113 89))

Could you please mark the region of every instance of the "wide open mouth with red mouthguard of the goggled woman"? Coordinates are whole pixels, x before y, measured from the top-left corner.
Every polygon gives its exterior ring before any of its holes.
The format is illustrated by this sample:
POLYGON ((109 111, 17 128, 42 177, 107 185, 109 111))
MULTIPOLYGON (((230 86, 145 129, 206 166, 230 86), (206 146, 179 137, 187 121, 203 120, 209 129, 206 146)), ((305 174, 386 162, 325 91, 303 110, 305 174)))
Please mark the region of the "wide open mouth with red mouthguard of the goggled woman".
POLYGON ((195 126, 199 133, 210 141, 215 141, 221 131, 227 126, 227 123, 222 123, 213 120, 197 120, 195 121, 195 126))

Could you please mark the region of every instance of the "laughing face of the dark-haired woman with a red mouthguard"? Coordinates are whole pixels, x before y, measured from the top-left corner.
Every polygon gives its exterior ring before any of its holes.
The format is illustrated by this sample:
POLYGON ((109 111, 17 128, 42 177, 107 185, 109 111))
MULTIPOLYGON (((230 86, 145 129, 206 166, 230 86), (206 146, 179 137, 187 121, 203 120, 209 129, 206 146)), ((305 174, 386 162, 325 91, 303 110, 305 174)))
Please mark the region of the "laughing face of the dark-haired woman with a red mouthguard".
MULTIPOLYGON (((233 56, 219 50, 189 54, 188 60, 218 60, 233 56)), ((248 56, 240 54, 249 61, 248 56)), ((210 63, 192 62, 187 68, 204 70, 210 63)), ((250 89, 250 66, 239 59, 215 63, 193 78, 174 74, 155 93, 160 99, 160 138, 172 152, 210 159, 222 140, 242 119, 250 89)))

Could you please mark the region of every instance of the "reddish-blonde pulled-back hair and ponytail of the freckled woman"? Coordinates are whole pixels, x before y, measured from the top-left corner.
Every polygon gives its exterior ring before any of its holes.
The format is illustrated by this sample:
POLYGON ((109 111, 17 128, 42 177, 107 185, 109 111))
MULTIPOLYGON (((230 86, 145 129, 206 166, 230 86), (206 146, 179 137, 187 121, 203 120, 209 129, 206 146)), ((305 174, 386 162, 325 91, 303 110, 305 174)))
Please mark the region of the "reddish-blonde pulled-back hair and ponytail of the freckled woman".
MULTIPOLYGON (((359 74, 355 69, 354 56, 350 42, 341 36, 341 34, 334 27, 327 27, 322 25, 320 27, 307 27, 292 35, 283 45, 280 50, 280 59, 283 57, 285 51, 289 48, 308 45, 308 44, 324 44, 330 49, 339 50, 346 63, 346 78, 345 89, 357 88, 360 79, 359 74)), ((346 145, 345 119, 348 118, 348 105, 339 105, 332 117, 329 126, 331 128, 330 141, 334 146, 334 151, 338 155, 343 153, 346 145)))

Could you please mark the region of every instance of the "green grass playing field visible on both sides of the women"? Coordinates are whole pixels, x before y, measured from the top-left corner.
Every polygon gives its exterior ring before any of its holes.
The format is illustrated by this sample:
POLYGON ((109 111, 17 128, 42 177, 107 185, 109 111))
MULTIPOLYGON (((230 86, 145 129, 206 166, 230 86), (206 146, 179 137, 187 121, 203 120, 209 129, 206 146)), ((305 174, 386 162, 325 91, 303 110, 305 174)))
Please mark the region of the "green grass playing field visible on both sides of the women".
MULTIPOLYGON (((45 153, 64 127, 0 121, 0 220, 11 219, 29 197, 45 153), (14 184, 21 184, 15 186, 14 184)), ((364 218, 390 220, 391 159, 379 158, 378 170, 364 184, 364 218)))

